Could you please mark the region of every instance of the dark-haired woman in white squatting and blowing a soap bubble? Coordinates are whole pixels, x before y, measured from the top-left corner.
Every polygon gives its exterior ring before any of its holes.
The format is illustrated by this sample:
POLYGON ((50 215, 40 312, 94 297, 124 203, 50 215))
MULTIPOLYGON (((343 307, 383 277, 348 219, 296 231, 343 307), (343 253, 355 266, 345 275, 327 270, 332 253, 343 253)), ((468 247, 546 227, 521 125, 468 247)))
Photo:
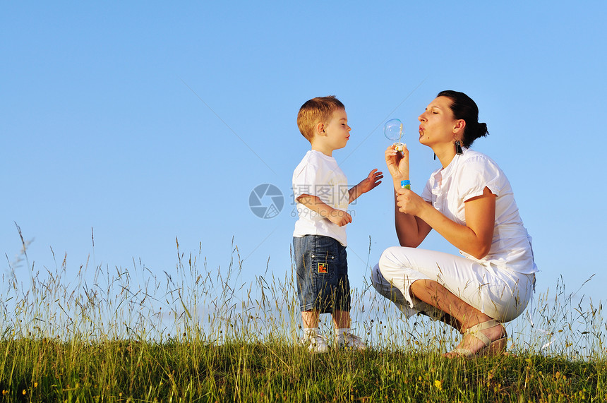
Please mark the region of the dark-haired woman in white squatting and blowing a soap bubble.
POLYGON ((385 151, 401 246, 384 251, 373 286, 405 315, 424 313, 459 330, 464 337, 449 357, 503 353, 502 323, 524 311, 538 271, 510 183, 493 160, 469 150, 488 134, 478 119, 476 103, 455 91, 440 92, 419 116, 419 142, 443 166, 421 196, 401 188, 409 150, 385 151), (462 256, 417 249, 431 229, 462 256))

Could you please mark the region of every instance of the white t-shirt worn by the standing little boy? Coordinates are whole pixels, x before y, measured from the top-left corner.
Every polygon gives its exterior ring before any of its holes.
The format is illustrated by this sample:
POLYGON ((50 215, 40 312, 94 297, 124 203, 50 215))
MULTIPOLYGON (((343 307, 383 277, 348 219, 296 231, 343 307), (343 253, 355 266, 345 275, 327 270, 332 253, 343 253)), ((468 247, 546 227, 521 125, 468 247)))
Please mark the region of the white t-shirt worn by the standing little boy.
MULTIPOLYGON (((293 172, 293 196, 317 196, 323 203, 346 211, 349 205, 348 180, 335 158, 320 151, 306 152, 293 172)), ((295 222, 293 236, 323 235, 347 245, 346 226, 339 227, 301 203, 295 205, 299 219, 295 222)))

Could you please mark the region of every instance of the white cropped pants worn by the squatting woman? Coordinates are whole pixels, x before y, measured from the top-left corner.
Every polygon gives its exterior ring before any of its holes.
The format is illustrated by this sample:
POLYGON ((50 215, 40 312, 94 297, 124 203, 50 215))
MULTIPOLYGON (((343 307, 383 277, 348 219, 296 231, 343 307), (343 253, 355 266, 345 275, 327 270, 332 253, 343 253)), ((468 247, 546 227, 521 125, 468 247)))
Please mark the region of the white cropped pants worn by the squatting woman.
POLYGON ((411 284, 431 279, 462 301, 500 322, 523 313, 534 291, 535 275, 481 265, 449 253, 392 246, 373 267, 373 287, 407 315, 426 313, 434 319, 443 312, 412 296, 411 284))

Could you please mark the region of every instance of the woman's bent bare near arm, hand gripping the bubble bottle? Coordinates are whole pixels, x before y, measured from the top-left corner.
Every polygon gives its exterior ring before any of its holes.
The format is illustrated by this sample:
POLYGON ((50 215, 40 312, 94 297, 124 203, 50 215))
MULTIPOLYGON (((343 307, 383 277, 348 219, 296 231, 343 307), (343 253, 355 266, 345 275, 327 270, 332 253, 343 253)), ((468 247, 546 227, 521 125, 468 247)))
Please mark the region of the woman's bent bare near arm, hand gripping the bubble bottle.
MULTIPOLYGON (((448 219, 409 189, 399 189, 397 207, 399 212, 415 216, 418 223, 427 223, 453 246, 475 258, 484 258, 491 249, 495 229, 495 195, 488 188, 483 190, 481 196, 464 202, 466 225, 448 219)), ((412 227, 411 219, 408 225, 412 227)), ((423 225, 418 225, 418 228, 424 229, 423 225)), ((418 236, 420 234, 421 231, 418 231, 418 236)))

